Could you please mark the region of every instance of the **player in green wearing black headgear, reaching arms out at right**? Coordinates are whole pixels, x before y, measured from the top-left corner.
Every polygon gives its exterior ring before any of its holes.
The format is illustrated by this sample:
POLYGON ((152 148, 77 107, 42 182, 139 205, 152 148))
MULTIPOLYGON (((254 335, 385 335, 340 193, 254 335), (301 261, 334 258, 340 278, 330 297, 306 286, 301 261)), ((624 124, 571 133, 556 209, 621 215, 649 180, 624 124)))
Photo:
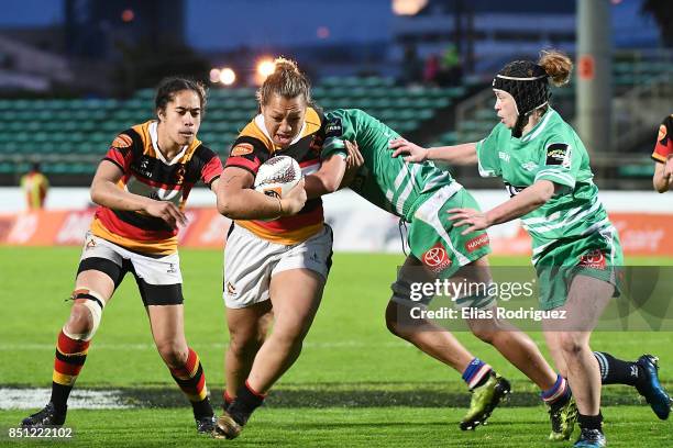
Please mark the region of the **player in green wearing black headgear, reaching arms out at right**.
POLYGON ((654 413, 668 418, 671 402, 658 379, 657 358, 626 362, 592 352, 591 333, 610 298, 619 295, 624 265, 617 231, 598 200, 588 154, 574 130, 549 107, 549 79, 565 83, 571 60, 543 52, 536 64, 517 60, 494 79, 500 123, 478 143, 420 148, 394 141, 393 156, 408 161, 478 164, 483 177, 500 177, 510 200, 485 213, 449 211, 470 234, 521 217, 533 240, 532 261, 540 279, 540 306, 567 311, 569 321, 545 322, 545 339, 556 367, 567 376, 580 411, 582 435, 575 446, 602 447, 602 382, 633 385, 654 413))

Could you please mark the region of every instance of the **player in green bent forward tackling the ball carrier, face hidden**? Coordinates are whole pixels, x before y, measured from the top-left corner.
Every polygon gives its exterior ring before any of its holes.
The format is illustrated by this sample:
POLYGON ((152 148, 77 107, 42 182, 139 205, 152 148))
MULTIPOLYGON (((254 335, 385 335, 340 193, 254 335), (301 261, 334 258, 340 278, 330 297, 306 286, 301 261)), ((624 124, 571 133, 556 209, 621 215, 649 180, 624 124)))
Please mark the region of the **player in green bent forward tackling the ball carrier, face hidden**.
MULTIPOLYGON (((481 231, 462 235, 462 229, 451 224, 446 213, 456 206, 476 208, 477 203, 448 171, 432 163, 407 164, 390 158, 388 143, 399 134, 375 117, 355 109, 335 110, 326 116, 324 161, 317 173, 306 178, 307 194, 326 194, 343 183, 345 159, 352 153, 349 145, 356 144, 364 164, 350 188, 410 224, 411 255, 393 284, 393 298, 386 309, 388 328, 463 374, 473 395, 461 428, 472 429, 509 393, 509 384, 467 351, 448 329, 426 317, 423 312, 435 294, 421 292, 421 285, 432 284, 437 279, 448 279, 453 284, 492 284, 486 257, 490 253, 488 235, 481 231)), ((565 379, 547 363, 536 344, 497 317, 495 296, 484 289, 454 291, 452 300, 460 311, 456 314, 467 316, 465 321, 477 337, 492 344, 540 387, 545 402, 560 403, 559 412, 552 415, 551 438, 570 438, 576 416, 570 389, 565 379)))

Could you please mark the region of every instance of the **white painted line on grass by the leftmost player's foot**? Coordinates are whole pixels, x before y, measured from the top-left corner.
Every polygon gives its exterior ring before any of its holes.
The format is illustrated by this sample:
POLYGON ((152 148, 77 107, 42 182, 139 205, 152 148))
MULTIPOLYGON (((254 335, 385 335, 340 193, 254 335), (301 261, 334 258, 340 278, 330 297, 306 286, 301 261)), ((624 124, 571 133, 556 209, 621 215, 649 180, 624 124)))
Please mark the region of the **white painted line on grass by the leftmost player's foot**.
MULTIPOLYGON (((38 410, 48 401, 51 389, 0 388, 0 410, 38 410)), ((69 410, 122 410, 133 407, 124 404, 121 391, 74 390, 68 400, 69 410)))

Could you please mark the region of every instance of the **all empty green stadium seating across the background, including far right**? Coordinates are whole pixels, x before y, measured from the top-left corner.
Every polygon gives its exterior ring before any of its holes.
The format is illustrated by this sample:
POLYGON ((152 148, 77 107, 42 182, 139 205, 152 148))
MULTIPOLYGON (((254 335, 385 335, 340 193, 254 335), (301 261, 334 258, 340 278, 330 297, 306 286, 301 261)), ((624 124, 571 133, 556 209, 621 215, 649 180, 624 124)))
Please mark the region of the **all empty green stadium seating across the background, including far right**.
MULTIPOLYGON (((627 98, 636 89, 670 80, 673 58, 618 56, 613 69, 615 96, 627 98)), ((554 89, 553 94, 554 107, 573 116, 574 86, 554 89)), ((43 163, 45 173, 56 176, 55 184, 62 183, 58 177, 64 177, 63 183, 86 184, 115 133, 154 115, 153 96, 152 89, 143 89, 128 99, 0 99, 4 123, 0 184, 15 183, 32 161, 43 163)), ((495 123, 493 96, 484 79, 439 88, 401 87, 382 77, 326 77, 313 87, 313 99, 324 110, 363 109, 427 146, 481 139, 495 123)), ((256 111, 254 88, 211 89, 199 137, 225 157, 231 142, 256 111)), ((620 120, 618 108, 616 116, 620 120)), ((651 176, 647 160, 636 160, 618 171, 625 177, 651 176)))

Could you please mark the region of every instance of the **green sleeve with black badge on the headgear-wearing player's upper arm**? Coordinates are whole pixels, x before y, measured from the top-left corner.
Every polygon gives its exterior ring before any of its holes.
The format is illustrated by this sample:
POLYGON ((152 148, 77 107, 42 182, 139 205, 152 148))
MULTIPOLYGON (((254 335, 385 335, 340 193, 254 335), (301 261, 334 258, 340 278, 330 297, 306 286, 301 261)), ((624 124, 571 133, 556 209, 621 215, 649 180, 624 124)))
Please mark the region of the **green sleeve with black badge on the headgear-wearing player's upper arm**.
POLYGON ((549 180, 567 187, 571 191, 574 190, 582 165, 582 153, 571 142, 561 136, 551 136, 547 139, 533 182, 549 180))

